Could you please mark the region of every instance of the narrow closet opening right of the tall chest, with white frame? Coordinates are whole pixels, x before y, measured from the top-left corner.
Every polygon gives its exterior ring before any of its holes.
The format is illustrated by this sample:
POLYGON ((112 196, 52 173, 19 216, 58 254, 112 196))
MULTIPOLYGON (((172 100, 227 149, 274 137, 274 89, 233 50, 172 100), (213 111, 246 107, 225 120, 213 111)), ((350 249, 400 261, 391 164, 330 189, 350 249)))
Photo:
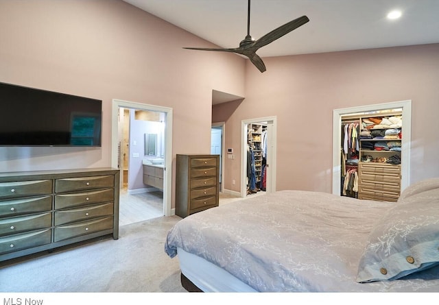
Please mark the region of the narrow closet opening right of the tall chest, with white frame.
POLYGON ((242 121, 241 197, 276 191, 276 117, 242 121))

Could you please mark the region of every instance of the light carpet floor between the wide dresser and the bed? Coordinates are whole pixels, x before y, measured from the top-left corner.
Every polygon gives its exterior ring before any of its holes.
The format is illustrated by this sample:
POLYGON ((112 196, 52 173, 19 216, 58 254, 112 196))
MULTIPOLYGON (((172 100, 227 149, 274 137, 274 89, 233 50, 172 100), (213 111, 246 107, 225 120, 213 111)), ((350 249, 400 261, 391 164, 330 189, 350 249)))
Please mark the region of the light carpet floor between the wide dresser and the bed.
POLYGON ((169 258, 167 232, 181 218, 123 225, 119 239, 99 239, 3 262, 0 292, 186 292, 178 257, 169 258))

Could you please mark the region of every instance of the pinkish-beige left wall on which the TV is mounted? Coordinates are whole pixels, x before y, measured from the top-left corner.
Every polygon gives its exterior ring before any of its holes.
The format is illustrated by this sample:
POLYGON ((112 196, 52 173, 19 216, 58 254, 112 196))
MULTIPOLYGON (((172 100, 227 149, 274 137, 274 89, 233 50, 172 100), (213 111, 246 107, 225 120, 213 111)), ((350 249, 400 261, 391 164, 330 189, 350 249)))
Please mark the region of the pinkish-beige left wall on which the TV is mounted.
POLYGON ((119 0, 1 1, 0 41, 0 82, 102 99, 104 115, 102 148, 0 147, 1 172, 110 166, 112 99, 173 108, 173 155, 209 154, 212 90, 244 95, 243 58, 182 49, 213 45, 119 0))

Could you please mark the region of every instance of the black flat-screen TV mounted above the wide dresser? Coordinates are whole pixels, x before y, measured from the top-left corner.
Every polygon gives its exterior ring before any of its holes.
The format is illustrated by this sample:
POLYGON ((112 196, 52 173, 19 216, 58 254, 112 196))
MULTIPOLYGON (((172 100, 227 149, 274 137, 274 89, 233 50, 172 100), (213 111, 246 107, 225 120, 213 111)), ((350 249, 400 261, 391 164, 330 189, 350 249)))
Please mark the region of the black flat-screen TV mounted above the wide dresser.
POLYGON ((1 146, 101 146, 102 100, 0 82, 1 146))

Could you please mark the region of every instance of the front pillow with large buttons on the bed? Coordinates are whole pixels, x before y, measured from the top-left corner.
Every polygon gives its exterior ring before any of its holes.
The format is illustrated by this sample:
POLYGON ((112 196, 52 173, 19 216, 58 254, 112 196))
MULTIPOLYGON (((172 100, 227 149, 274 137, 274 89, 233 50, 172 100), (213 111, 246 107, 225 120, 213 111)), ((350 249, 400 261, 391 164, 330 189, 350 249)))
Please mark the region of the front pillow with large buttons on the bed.
POLYGON ((410 193, 375 224, 357 282, 397 280, 439 265, 439 188, 410 193))

